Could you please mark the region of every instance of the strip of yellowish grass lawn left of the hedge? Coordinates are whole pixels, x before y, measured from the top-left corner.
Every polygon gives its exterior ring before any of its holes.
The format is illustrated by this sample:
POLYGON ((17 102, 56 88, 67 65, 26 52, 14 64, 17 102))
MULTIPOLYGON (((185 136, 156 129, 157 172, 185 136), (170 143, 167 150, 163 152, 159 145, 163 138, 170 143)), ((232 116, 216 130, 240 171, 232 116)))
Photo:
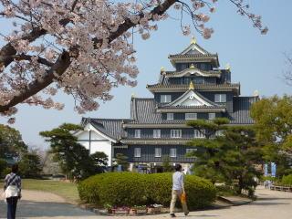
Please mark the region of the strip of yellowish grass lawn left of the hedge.
MULTIPOLYGON (((0 189, 3 188, 3 181, 0 182, 0 189)), ((56 193, 65 198, 68 202, 78 203, 79 195, 76 183, 64 183, 51 180, 22 180, 22 189, 56 193)))

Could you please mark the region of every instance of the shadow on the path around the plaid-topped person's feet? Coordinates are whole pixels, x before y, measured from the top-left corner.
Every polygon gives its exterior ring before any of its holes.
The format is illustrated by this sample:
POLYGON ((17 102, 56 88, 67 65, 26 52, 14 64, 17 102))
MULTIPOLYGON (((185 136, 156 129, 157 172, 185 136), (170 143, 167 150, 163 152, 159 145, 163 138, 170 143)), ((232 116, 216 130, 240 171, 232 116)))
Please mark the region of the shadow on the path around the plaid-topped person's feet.
MULTIPOLYGON (((89 216, 95 215, 69 203, 20 201, 17 204, 16 217, 56 217, 56 216, 89 216)), ((6 203, 0 202, 0 218, 6 216, 6 203)))

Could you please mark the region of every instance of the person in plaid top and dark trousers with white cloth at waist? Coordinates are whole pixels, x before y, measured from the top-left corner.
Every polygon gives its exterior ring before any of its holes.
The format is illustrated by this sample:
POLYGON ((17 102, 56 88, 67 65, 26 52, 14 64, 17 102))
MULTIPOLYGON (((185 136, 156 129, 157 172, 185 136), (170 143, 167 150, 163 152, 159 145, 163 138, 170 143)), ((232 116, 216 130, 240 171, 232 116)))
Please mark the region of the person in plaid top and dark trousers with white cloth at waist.
POLYGON ((21 179, 16 173, 18 165, 14 164, 11 168, 11 173, 5 177, 4 191, 7 202, 7 219, 16 218, 16 205, 18 199, 21 198, 21 179))

